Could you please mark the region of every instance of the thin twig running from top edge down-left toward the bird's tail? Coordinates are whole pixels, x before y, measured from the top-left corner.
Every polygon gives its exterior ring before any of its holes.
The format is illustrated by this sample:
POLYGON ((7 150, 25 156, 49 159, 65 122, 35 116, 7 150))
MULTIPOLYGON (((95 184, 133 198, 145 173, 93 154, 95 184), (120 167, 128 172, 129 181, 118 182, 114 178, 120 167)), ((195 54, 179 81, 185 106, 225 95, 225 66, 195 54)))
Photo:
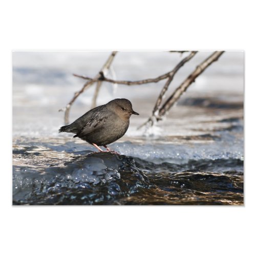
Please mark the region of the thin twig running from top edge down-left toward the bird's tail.
POLYGON ((100 80, 100 77, 102 77, 102 74, 104 74, 104 71, 106 69, 109 69, 109 67, 111 66, 111 63, 116 55, 116 51, 113 51, 111 53, 111 55, 109 56, 109 58, 106 60, 106 62, 104 63, 103 67, 101 68, 100 72, 94 77, 91 78, 88 82, 83 84, 83 87, 80 91, 76 92, 73 96, 73 98, 70 100, 70 102, 66 105, 66 107, 64 109, 61 109, 59 111, 63 111, 65 110, 65 124, 69 123, 69 113, 70 113, 70 108, 72 106, 72 104, 74 103, 74 101, 77 99, 77 97, 83 93, 84 90, 88 89, 90 86, 92 86, 93 83, 95 83, 96 81, 100 80))

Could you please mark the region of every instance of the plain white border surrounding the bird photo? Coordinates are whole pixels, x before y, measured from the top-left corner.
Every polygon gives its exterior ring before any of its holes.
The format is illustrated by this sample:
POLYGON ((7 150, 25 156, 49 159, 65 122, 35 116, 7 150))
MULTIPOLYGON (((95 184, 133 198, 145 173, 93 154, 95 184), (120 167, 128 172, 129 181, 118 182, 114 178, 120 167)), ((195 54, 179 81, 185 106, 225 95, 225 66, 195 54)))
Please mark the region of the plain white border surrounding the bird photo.
POLYGON ((219 0, 3 3, 1 254, 252 255, 256 181, 253 1, 251 5, 219 0), (166 49, 246 51, 246 206, 12 207, 11 51, 166 49))

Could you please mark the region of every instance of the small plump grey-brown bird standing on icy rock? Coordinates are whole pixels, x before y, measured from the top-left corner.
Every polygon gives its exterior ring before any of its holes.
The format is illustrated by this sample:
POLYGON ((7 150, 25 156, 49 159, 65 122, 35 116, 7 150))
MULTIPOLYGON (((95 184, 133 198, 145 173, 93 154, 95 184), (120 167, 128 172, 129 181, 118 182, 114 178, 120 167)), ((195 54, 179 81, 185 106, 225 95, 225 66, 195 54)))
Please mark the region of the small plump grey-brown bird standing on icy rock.
POLYGON ((109 103, 88 111, 73 123, 62 126, 59 133, 75 133, 73 138, 80 138, 94 145, 104 146, 106 152, 113 152, 108 144, 120 139, 127 131, 131 115, 139 115, 133 111, 132 103, 127 99, 114 99, 109 103))

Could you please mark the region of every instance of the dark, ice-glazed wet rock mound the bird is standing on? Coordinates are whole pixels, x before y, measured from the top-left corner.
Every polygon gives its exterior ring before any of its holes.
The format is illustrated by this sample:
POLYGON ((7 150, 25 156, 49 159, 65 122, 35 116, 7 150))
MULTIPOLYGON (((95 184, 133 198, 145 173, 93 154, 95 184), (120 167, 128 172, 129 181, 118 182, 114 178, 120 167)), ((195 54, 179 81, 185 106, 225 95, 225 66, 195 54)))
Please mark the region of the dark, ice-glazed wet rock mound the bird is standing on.
POLYGON ((111 204, 148 187, 134 159, 112 153, 93 153, 48 167, 44 174, 14 168, 14 204, 111 204), (62 197, 59 195, 62 194, 62 197))

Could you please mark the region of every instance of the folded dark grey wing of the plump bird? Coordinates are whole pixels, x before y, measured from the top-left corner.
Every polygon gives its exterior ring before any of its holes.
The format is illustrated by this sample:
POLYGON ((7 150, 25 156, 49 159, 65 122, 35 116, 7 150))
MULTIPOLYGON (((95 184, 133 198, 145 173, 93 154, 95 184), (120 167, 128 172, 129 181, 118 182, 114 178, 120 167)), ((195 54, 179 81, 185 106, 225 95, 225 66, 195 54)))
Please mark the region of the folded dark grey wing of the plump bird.
POLYGON ((104 125, 106 120, 109 118, 109 115, 110 113, 104 110, 101 112, 91 113, 90 118, 88 118, 88 122, 83 125, 82 129, 77 133, 75 137, 87 136, 90 133, 97 131, 104 125))

